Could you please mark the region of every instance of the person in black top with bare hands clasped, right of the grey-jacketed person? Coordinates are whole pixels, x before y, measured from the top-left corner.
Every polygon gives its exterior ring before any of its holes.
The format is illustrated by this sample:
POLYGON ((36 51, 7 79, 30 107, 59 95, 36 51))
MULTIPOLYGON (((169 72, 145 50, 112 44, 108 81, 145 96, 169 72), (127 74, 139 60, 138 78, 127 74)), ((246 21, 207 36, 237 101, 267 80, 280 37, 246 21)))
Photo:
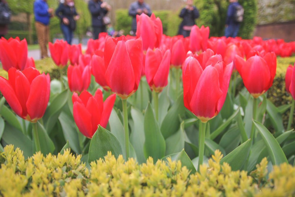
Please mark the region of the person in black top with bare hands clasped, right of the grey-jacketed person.
POLYGON ((195 19, 199 17, 199 10, 193 6, 193 0, 186 0, 186 6, 181 10, 179 17, 183 18, 183 21, 179 25, 178 34, 183 37, 188 37, 191 33, 191 28, 196 24, 195 19))

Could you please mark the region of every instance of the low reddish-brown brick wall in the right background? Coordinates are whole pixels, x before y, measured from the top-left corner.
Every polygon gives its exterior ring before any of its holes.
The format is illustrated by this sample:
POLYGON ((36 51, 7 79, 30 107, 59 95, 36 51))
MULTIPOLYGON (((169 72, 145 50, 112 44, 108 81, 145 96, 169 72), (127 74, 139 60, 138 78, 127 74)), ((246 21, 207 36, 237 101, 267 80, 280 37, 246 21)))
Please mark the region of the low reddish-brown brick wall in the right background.
POLYGON ((295 21, 257 25, 253 36, 262 39, 284 39, 285 42, 295 41, 295 21))

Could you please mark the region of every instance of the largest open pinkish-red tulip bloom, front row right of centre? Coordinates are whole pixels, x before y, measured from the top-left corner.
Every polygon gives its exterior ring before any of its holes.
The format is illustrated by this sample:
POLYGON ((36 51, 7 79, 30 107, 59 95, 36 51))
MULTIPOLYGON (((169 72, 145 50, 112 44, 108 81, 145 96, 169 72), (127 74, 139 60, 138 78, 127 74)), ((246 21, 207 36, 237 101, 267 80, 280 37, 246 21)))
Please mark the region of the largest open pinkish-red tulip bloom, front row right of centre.
POLYGON ((184 106, 202 122, 214 118, 221 110, 230 83, 233 64, 218 61, 203 70, 200 63, 191 59, 183 78, 184 106))

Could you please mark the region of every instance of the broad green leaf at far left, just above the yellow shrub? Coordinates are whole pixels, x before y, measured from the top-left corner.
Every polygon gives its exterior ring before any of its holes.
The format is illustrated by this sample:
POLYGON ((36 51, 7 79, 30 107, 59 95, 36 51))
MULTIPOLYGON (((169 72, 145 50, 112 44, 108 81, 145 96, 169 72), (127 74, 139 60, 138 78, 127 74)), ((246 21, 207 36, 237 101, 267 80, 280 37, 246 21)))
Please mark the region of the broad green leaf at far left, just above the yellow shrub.
POLYGON ((5 125, 1 141, 3 146, 6 146, 7 144, 13 144, 14 150, 19 147, 23 151, 25 159, 33 156, 32 140, 9 124, 5 125))

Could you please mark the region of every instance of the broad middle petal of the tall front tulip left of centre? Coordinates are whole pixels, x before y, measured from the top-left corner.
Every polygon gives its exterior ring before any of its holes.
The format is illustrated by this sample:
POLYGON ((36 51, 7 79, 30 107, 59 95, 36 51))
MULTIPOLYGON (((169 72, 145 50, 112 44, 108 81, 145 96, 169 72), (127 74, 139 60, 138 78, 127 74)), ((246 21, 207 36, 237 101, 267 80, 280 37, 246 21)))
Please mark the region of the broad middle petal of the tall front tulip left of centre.
POLYGON ((124 41, 118 42, 105 77, 109 87, 116 94, 127 98, 133 91, 135 76, 124 41))

